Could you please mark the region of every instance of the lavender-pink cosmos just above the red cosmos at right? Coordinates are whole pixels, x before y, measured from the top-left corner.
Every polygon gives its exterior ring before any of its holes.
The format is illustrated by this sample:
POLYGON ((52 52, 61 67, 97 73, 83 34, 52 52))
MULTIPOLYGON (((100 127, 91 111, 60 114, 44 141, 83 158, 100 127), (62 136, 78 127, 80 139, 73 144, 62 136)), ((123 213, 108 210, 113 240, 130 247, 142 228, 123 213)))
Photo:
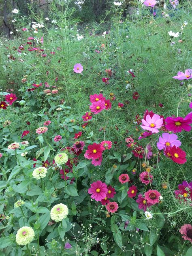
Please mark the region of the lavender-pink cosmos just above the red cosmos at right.
POLYGON ((162 150, 164 147, 176 147, 181 146, 181 141, 177 140, 177 135, 172 133, 169 134, 168 132, 164 132, 162 137, 159 137, 159 142, 157 143, 157 147, 159 150, 162 150))

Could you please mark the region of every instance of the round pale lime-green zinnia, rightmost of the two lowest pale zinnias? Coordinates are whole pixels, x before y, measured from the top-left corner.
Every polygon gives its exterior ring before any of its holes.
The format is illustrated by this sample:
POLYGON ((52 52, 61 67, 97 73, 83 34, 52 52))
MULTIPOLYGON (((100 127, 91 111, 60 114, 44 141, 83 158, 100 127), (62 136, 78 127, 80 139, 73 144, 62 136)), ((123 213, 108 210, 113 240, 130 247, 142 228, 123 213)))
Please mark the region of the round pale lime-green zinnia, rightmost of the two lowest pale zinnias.
POLYGON ((68 214, 68 207, 62 203, 58 205, 54 205, 53 208, 51 209, 51 219, 54 220, 55 222, 62 221, 67 217, 68 214))

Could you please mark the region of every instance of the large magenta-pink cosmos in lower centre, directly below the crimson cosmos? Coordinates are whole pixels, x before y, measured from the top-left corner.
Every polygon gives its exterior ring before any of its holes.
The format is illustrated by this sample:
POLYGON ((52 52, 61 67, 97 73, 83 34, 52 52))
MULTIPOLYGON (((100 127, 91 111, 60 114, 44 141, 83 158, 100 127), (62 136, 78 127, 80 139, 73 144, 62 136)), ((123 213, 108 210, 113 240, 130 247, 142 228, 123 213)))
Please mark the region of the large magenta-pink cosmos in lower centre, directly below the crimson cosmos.
POLYGON ((91 198, 95 199, 96 201, 101 201, 104 199, 107 195, 107 192, 107 185, 100 180, 93 182, 91 184, 91 188, 88 189, 88 193, 92 194, 91 198))

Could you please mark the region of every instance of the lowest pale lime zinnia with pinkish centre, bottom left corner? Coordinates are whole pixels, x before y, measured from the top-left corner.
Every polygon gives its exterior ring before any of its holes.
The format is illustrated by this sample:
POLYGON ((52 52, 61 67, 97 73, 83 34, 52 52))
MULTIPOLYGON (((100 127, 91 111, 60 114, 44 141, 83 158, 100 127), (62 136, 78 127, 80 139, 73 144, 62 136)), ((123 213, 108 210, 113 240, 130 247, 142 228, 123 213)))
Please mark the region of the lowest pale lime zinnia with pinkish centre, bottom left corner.
POLYGON ((32 228, 24 226, 17 231, 16 242, 18 245, 26 245, 34 239, 35 233, 32 228))

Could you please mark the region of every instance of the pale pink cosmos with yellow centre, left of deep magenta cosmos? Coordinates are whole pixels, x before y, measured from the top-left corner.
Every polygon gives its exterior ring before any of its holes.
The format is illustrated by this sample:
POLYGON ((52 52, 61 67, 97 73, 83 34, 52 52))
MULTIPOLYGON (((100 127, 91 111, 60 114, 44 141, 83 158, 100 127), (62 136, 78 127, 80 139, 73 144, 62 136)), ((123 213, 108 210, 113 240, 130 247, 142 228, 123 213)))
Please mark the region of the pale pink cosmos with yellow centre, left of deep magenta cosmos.
POLYGON ((150 115, 147 115, 146 120, 142 119, 142 124, 143 125, 141 125, 141 128, 143 128, 143 130, 157 133, 159 132, 158 129, 161 128, 163 124, 163 118, 156 114, 154 114, 152 118, 150 117, 150 115))

